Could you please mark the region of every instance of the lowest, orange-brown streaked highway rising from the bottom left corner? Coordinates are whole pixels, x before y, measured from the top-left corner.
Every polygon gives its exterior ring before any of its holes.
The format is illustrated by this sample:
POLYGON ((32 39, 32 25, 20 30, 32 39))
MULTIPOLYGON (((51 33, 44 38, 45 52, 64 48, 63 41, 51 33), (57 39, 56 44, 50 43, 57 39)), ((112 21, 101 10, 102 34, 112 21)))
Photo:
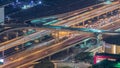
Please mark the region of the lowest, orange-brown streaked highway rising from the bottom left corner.
MULTIPOLYGON (((26 63, 26 62, 28 62, 28 61, 33 61, 33 60, 35 61, 35 60, 38 59, 38 58, 39 58, 39 59, 40 59, 40 58, 44 58, 45 56, 48 56, 48 55, 50 55, 50 54, 54 54, 54 53, 56 53, 56 52, 59 52, 59 51, 63 50, 63 48, 69 46, 70 44, 74 44, 74 43, 76 43, 76 42, 78 42, 78 41, 80 41, 80 40, 83 40, 83 39, 85 39, 85 38, 88 38, 88 37, 90 37, 90 36, 84 36, 84 37, 83 37, 83 36, 76 36, 76 37, 67 39, 67 40, 65 40, 65 41, 63 41, 63 42, 60 42, 60 43, 58 43, 58 44, 55 44, 55 45, 52 45, 52 46, 43 48, 43 49, 41 49, 41 50, 38 50, 38 51, 35 51, 35 52, 32 52, 32 53, 29 53, 29 55, 20 57, 19 60, 16 59, 16 60, 13 61, 13 62, 9 62, 8 64, 11 64, 11 63, 12 63, 13 66, 10 66, 10 65, 8 65, 8 66, 9 66, 10 68, 12 68, 12 67, 18 66, 19 64, 21 65, 21 64, 23 64, 23 63, 26 63), (68 44, 68 42, 71 42, 71 43, 68 44), (63 45, 63 44, 64 44, 64 45, 63 45), (54 52, 54 53, 53 53, 53 52, 54 52), (31 58, 31 57, 32 57, 32 58, 31 58), (27 58, 27 60, 25 60, 26 58, 27 58), (28 59, 28 58, 31 58, 31 59, 28 59), (23 60, 24 60, 24 61, 23 61, 23 60), (20 63, 14 64, 14 63, 19 62, 19 61, 20 61, 20 63), (14 66, 14 65, 16 65, 16 66, 14 66)), ((6 64, 7 64, 7 63, 6 63, 6 64)), ((5 65, 6 65, 6 64, 5 64, 5 65)), ((6 66, 3 67, 3 68, 6 68, 6 66)))

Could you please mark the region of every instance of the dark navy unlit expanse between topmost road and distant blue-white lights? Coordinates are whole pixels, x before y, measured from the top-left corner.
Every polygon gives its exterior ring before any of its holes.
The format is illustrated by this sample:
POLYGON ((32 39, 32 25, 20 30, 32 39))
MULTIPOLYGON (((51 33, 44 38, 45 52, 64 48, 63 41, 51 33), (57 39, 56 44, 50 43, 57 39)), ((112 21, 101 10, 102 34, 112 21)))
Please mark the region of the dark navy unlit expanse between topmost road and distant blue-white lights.
MULTIPOLYGON (((32 0, 19 0, 19 1, 21 3, 30 3, 32 0)), ((5 16, 9 16, 11 18, 24 21, 44 16, 62 14, 99 3, 98 0, 33 0, 33 1, 34 2, 41 1, 42 4, 22 11, 20 11, 21 8, 18 6, 13 7, 13 5, 9 5, 5 7, 5 16), (17 11, 20 12, 15 13, 17 11), (34 15, 32 15, 33 13, 34 15)), ((0 5, 11 2, 15 3, 15 0, 0 0, 0 5)))

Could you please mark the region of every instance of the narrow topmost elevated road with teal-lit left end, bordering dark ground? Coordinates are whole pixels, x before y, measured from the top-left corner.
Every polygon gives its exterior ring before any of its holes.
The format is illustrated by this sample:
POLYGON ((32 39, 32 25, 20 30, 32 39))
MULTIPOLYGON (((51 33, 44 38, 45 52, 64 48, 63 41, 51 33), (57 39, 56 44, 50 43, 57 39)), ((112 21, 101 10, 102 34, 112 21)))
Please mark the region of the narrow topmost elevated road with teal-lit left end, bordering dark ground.
MULTIPOLYGON (((68 18, 71 18, 73 16, 77 16, 78 14, 83 14, 85 12, 92 11, 96 8, 100 8, 104 5, 105 4, 100 3, 100 4, 89 6, 89 7, 83 8, 83 9, 78 9, 78 10, 75 10, 72 12, 67 12, 67 13, 43 17, 43 18, 31 19, 31 20, 27 20, 27 21, 31 21, 31 23, 34 23, 34 24, 36 24, 37 22, 42 22, 42 23, 44 23, 44 25, 51 25, 51 24, 55 24, 57 22, 60 22, 62 20, 66 20, 68 18)), ((25 21, 25 22, 27 22, 27 21, 25 21)))

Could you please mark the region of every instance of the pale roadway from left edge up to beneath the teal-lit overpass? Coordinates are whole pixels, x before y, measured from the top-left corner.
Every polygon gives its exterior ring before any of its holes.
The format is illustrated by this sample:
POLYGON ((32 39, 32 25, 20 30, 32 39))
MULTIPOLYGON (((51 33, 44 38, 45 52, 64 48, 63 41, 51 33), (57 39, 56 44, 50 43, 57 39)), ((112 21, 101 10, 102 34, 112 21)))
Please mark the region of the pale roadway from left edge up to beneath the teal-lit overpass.
POLYGON ((14 42, 13 40, 9 41, 9 43, 5 44, 5 43, 1 43, 0 44, 0 51, 4 51, 4 50, 7 50, 9 48, 12 48, 12 47, 15 47, 17 45, 20 45, 20 44, 23 44, 23 43, 26 43, 28 41, 31 41, 31 40, 34 40, 34 39, 37 39, 39 37, 42 37, 46 34, 50 34, 50 31, 40 31, 40 32, 36 32, 36 33, 33 33, 31 35, 28 35, 28 36, 25 36, 25 37, 22 37, 22 38, 18 38, 17 40, 15 39, 14 42), (11 43, 12 42, 12 43, 11 43), (4 45, 3 45, 4 44, 4 45))

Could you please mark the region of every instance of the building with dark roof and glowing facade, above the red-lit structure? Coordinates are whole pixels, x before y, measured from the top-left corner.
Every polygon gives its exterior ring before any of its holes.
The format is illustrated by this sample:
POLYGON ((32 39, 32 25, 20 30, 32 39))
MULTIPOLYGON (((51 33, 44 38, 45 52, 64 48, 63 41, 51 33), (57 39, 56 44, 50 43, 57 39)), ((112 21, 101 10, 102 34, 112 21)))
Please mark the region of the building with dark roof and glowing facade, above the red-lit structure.
POLYGON ((120 54, 120 35, 112 35, 104 38, 104 52, 120 54))

